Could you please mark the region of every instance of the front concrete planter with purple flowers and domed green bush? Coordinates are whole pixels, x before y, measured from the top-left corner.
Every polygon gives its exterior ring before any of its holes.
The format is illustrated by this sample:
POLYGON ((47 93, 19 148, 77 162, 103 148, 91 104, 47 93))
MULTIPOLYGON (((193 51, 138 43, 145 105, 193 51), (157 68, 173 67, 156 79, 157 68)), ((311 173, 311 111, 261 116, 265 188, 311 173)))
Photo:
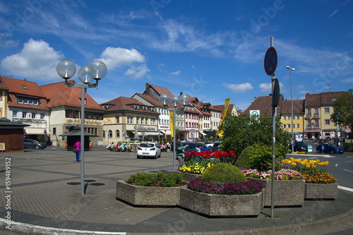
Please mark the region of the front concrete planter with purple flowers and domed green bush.
POLYGON ((263 209, 263 191, 237 167, 214 164, 181 188, 180 206, 208 216, 256 216, 263 209))

